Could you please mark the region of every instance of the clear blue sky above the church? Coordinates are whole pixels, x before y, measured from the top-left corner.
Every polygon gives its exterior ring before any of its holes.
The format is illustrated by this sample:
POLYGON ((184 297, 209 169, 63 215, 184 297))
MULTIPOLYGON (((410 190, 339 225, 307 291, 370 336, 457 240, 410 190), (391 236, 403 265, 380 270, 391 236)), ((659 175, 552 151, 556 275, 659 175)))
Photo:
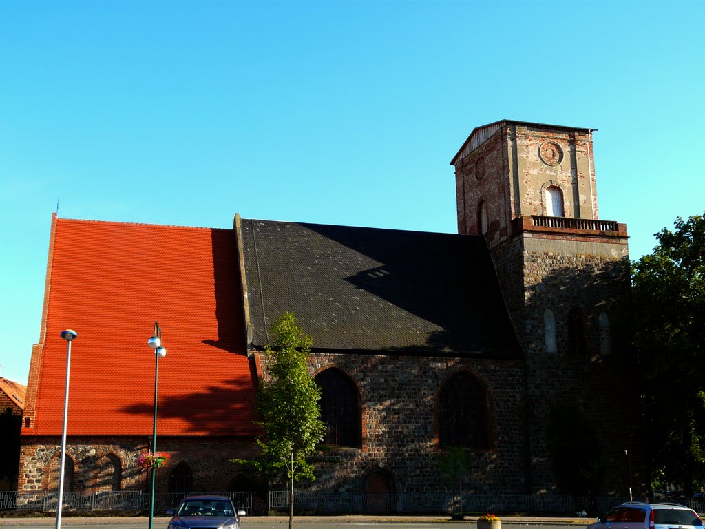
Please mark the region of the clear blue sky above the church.
POLYGON ((27 381, 57 201, 453 233, 450 159, 508 118, 598 129, 600 217, 649 253, 705 209, 704 21, 699 1, 0 2, 0 376, 27 381))

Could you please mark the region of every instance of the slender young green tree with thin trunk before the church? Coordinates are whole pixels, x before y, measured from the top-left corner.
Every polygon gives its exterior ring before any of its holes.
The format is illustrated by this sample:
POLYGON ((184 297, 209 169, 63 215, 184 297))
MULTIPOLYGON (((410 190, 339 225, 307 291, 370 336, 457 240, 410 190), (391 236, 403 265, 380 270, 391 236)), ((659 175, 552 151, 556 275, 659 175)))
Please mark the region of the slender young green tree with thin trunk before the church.
POLYGON ((294 483, 315 479, 306 461, 326 430, 320 419, 321 390, 309 374, 307 358, 312 337, 298 327, 293 312, 285 312, 271 327, 274 346, 265 346, 266 372, 257 390, 257 412, 264 434, 257 439, 262 449, 247 463, 267 475, 283 473, 289 491, 289 528, 293 528, 294 483))

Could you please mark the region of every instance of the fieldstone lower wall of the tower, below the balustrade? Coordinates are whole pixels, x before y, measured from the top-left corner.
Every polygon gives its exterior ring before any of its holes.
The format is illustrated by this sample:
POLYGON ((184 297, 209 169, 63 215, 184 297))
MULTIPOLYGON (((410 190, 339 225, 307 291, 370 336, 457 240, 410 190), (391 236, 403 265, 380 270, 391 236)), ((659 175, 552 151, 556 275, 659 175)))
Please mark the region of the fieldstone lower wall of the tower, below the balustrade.
MULTIPOLYGON (((519 245, 520 243, 515 243, 519 245)), ((613 372, 611 351, 601 347, 599 318, 606 315, 615 329, 616 303, 628 288, 625 240, 610 243, 575 238, 523 238, 525 309, 521 339, 527 353, 527 388, 531 417, 533 491, 554 480, 546 450, 545 429, 551 406, 576 406, 603 444, 608 461, 606 491, 626 490, 623 451, 636 453, 636 402, 631 401, 613 372), (582 253, 575 253, 575 250, 582 253), (587 253, 593 251, 594 253, 587 253), (568 311, 584 313, 586 354, 568 350, 568 311), (557 351, 546 350, 544 311, 556 321, 557 351), (615 406, 619 403, 619 406, 615 406)), ((639 468, 637 463, 635 468, 639 468)), ((639 476, 635 477, 639 482, 639 476)))

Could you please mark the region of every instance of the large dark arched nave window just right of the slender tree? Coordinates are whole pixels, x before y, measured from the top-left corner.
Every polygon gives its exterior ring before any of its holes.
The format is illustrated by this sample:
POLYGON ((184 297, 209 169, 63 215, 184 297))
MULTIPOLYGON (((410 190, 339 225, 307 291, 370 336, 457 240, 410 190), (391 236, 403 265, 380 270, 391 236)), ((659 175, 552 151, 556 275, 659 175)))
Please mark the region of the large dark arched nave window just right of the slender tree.
POLYGON ((355 384, 334 368, 320 372, 316 383, 321 388, 321 420, 326 423, 324 444, 359 447, 362 417, 355 384))

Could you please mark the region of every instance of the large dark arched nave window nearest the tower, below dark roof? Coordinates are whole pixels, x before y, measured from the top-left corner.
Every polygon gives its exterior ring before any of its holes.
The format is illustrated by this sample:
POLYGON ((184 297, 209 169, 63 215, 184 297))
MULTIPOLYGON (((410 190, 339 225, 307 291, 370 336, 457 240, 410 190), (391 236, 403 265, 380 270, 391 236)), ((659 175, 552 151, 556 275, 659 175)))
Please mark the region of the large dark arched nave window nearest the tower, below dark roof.
POLYGON ((439 441, 443 446, 489 448, 489 399, 468 372, 450 377, 439 392, 439 441))

